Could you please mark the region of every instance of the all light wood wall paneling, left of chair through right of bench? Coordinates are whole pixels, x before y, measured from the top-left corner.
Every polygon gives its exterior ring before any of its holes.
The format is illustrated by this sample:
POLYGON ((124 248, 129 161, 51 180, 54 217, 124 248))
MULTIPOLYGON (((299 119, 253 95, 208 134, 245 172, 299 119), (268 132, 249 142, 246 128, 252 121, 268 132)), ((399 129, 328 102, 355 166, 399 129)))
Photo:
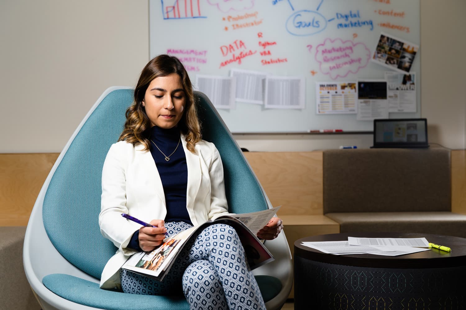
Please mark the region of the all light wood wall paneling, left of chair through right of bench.
MULTIPOLYGON (((0 226, 26 225, 58 153, 0 154, 0 226)), ((322 215, 322 152, 245 152, 278 215, 322 215)), ((466 214, 466 152, 452 151, 452 211, 466 214)), ((287 223, 285 223, 287 224, 287 223)), ((288 223, 290 224, 290 223, 288 223)))

